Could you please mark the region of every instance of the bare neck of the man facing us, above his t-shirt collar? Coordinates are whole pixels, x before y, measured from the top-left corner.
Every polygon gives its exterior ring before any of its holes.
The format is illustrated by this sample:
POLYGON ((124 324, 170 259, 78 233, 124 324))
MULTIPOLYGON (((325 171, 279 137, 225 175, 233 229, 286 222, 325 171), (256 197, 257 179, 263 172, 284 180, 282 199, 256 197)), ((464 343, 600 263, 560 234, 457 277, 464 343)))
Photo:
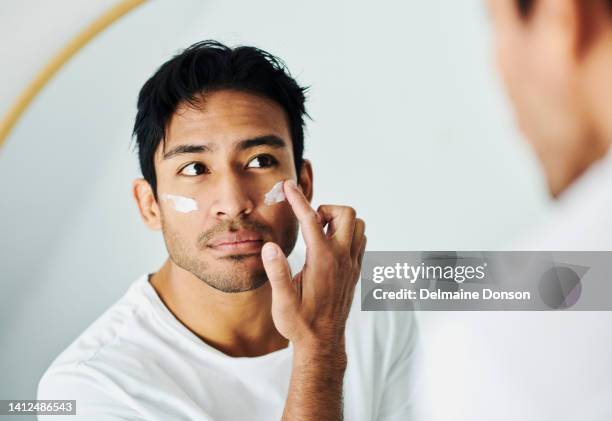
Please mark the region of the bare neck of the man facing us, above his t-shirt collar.
POLYGON ((270 312, 270 284, 238 293, 218 291, 171 259, 151 285, 174 316, 207 344, 233 357, 254 357, 285 348, 270 312))

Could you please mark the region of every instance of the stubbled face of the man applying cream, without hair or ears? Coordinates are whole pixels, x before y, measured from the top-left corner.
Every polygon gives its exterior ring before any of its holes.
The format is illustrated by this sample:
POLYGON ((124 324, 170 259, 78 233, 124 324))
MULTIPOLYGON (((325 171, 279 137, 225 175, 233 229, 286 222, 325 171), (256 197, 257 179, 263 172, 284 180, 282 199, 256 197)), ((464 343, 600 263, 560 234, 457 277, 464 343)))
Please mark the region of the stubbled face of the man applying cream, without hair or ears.
POLYGON ((274 184, 296 179, 287 117, 270 99, 232 90, 200 105, 177 109, 155 155, 166 247, 176 265, 218 290, 254 289, 267 279, 262 245, 273 241, 288 255, 297 238, 288 203, 264 203, 274 184), (192 198, 198 210, 179 212, 166 194, 192 198))

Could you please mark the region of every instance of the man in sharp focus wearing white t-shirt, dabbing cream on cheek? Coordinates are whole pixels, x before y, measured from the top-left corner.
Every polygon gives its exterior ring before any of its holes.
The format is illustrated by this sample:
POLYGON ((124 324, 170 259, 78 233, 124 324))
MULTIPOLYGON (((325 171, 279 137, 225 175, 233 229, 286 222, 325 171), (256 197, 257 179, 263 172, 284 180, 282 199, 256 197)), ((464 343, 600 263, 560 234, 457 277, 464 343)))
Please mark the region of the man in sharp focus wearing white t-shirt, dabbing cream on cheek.
POLYGON ((100 421, 410 419, 413 319, 351 310, 365 224, 310 207, 304 102, 274 56, 213 41, 145 83, 133 192, 169 258, 54 361, 39 399, 100 421))

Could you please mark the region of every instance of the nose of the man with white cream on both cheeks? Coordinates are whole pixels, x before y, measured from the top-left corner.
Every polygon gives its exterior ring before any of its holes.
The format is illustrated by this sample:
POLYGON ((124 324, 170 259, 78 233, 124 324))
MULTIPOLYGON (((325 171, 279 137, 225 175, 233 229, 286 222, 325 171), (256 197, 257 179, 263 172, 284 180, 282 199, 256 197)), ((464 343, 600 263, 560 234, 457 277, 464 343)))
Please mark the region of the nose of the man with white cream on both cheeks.
POLYGON ((254 205, 246 187, 244 180, 235 174, 220 177, 210 208, 211 215, 219 219, 234 219, 250 214, 254 205))

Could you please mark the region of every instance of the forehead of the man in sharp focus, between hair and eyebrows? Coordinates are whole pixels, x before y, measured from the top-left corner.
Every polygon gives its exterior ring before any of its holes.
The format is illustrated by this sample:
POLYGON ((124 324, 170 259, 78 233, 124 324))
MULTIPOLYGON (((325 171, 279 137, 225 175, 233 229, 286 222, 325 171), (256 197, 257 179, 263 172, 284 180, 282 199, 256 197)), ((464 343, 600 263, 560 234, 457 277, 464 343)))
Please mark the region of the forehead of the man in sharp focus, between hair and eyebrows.
POLYGON ((177 108, 167 127, 164 150, 186 141, 225 148, 266 135, 291 142, 285 110, 269 98, 221 90, 207 93, 197 105, 177 108))

